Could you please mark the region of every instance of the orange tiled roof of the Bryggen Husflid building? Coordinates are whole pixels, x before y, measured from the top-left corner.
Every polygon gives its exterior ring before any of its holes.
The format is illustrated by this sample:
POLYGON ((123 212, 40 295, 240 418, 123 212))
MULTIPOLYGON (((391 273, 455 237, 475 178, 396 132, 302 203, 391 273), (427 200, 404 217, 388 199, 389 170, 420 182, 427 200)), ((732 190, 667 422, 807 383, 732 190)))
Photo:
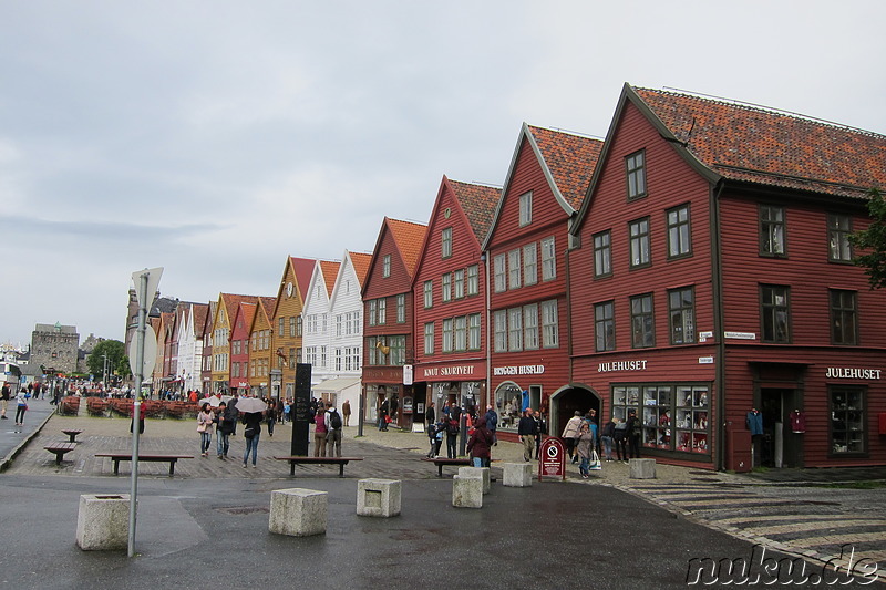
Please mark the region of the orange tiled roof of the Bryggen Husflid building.
POLYGON ((566 201, 578 210, 602 151, 602 141, 527 125, 554 182, 566 201))

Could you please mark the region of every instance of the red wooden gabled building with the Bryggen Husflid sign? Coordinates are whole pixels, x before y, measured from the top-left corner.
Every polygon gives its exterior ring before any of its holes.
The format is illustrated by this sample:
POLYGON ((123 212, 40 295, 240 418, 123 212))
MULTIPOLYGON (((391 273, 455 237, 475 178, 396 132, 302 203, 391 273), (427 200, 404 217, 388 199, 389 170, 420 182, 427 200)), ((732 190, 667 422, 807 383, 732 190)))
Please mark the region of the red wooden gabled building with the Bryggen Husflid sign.
POLYGON ((499 432, 524 407, 559 434, 596 397, 569 384, 566 258, 570 224, 602 142, 524 124, 483 249, 490 300, 490 392, 499 432))

